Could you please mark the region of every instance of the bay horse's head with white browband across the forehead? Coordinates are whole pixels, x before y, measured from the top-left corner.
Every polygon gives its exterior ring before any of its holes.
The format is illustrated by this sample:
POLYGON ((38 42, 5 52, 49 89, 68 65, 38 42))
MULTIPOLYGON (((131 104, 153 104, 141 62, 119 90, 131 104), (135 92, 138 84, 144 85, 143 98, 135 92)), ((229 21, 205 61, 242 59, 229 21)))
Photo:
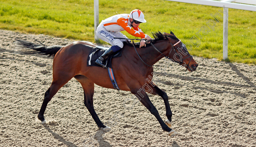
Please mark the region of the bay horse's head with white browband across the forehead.
POLYGON ((178 39, 173 32, 170 34, 163 33, 166 39, 168 39, 170 46, 169 50, 169 59, 173 62, 179 63, 181 66, 186 67, 188 71, 195 71, 198 64, 189 54, 185 44, 183 44, 180 39, 178 39))

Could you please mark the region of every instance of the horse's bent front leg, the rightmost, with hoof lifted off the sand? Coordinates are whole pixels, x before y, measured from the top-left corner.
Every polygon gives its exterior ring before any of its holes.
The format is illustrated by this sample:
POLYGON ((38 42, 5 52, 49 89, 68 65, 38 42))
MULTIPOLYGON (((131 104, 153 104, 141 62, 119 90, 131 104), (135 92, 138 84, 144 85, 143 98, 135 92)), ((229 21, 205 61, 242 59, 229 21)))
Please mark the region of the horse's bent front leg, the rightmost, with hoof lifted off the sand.
POLYGON ((148 86, 150 86, 150 88, 152 89, 152 91, 148 90, 149 92, 151 92, 151 94, 159 95, 164 100, 165 109, 166 109, 166 114, 165 115, 167 117, 167 120, 165 121, 165 124, 168 125, 168 127, 171 127, 172 126, 172 111, 171 111, 171 108, 170 108, 170 104, 169 104, 169 101, 168 101, 167 94, 164 91, 162 91, 160 88, 158 88, 152 82, 150 84, 148 84, 148 86))

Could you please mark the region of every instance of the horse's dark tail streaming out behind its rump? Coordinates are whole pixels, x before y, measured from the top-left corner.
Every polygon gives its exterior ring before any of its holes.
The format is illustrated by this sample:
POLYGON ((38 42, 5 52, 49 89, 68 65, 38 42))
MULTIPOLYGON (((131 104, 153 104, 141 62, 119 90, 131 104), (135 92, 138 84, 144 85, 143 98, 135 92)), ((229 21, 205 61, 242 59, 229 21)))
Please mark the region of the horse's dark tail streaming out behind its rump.
MULTIPOLYGON (((41 54, 41 55, 48 55, 48 57, 52 56, 54 57, 55 54, 62 48, 62 46, 46 46, 43 43, 37 44, 37 43, 31 43, 26 40, 22 39, 15 39, 15 43, 17 44, 17 51, 16 53, 19 54, 41 54)), ((35 39, 36 40, 36 39, 35 39)), ((36 40, 37 41, 37 40, 36 40)))

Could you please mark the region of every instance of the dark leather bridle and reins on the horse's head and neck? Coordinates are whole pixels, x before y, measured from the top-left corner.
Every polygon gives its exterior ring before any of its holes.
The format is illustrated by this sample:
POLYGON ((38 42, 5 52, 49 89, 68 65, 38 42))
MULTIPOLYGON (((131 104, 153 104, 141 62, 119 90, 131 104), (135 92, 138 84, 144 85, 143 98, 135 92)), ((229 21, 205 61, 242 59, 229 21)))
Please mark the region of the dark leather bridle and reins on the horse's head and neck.
MULTIPOLYGON (((166 36, 165 36, 165 39, 167 39, 166 36)), ((169 39, 167 39, 167 40, 169 41, 169 39)), ((147 40, 146 40, 146 41, 147 41, 147 40)), ((175 49, 174 46, 176 46, 176 45, 179 44, 180 42, 181 42, 181 40, 179 40, 179 41, 178 41, 177 43, 175 43, 175 44, 172 44, 172 43, 169 41, 169 43, 172 45, 172 46, 171 46, 171 47, 172 47, 172 50, 175 51, 175 54, 177 53, 177 51, 176 51, 176 49, 175 49)), ((165 56, 161 51, 159 51, 159 50, 153 45, 153 43, 150 43, 150 44, 151 44, 151 46, 153 46, 153 48, 154 48, 156 51, 158 51, 158 52, 161 53, 163 56, 165 56)), ((142 60, 142 58, 141 58, 140 55, 138 54, 138 52, 137 52, 135 46, 134 46, 134 49, 135 49, 137 55, 139 56, 140 60, 141 60, 144 64, 146 64, 147 66, 152 67, 152 65, 148 65, 147 63, 145 63, 145 62, 142 60)), ((170 56, 172 50, 170 50, 168 56, 165 56, 165 58, 166 58, 166 59, 169 59, 169 60, 171 60, 171 61, 173 61, 173 62, 179 63, 179 64, 180 64, 181 66, 183 66, 183 67, 186 67, 186 66, 187 66, 186 70, 187 70, 188 68, 190 68, 190 67, 189 67, 189 63, 190 63, 190 61, 193 59, 193 56, 190 55, 190 56, 188 56, 188 57, 186 57, 186 58, 184 58, 184 59, 181 59, 180 61, 174 61, 174 60, 172 60, 172 59, 169 58, 169 56, 170 56), (189 58, 189 57, 191 57, 191 59, 189 60, 188 64, 186 64, 185 62, 183 62, 185 59, 187 59, 187 58, 189 58), (183 63, 185 63, 185 64, 183 65, 183 63)), ((154 66, 154 65, 153 65, 153 66, 154 66)), ((192 69, 190 68, 190 70, 192 70, 192 69)))

